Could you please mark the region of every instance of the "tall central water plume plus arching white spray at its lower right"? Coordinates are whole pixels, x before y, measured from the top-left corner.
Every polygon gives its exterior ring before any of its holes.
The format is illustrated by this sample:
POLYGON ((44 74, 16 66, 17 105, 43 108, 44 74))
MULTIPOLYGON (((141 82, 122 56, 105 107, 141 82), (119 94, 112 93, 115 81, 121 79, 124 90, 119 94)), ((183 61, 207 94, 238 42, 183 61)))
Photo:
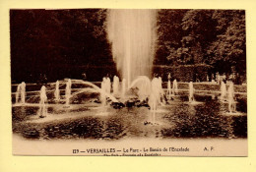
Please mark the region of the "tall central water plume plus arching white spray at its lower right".
POLYGON ((156 112, 164 92, 161 78, 151 82, 156 40, 156 10, 109 10, 107 36, 113 59, 122 77, 122 99, 127 87, 138 90, 138 99, 147 101, 156 112), (147 76, 147 77, 146 77, 147 76))

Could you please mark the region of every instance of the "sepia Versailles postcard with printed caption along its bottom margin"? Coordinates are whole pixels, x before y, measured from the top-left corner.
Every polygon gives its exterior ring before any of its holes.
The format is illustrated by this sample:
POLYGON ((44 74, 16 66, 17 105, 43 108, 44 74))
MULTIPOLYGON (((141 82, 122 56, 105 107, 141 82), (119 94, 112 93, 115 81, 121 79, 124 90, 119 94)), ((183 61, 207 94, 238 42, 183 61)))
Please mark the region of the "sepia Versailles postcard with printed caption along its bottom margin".
POLYGON ((13 154, 247 156, 245 13, 10 9, 13 154))

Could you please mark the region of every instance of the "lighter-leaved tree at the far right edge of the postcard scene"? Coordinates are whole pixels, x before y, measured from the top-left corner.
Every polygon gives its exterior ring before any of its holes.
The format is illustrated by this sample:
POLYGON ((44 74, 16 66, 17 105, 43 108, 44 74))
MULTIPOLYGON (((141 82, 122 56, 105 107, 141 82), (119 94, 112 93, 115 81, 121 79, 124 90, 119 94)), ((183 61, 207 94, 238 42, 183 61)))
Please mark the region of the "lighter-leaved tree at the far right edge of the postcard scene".
POLYGON ((246 42, 244 11, 216 11, 220 34, 217 35, 208 51, 207 63, 221 73, 238 72, 246 74, 246 42))

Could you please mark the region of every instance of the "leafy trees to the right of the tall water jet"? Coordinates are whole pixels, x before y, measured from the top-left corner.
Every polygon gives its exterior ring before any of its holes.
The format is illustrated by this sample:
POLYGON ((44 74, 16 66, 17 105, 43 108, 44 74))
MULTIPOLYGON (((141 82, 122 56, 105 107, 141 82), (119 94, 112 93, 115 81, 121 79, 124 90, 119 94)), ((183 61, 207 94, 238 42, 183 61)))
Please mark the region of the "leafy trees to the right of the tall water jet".
POLYGON ((160 10, 155 64, 211 65, 212 72, 246 74, 245 12, 160 10))

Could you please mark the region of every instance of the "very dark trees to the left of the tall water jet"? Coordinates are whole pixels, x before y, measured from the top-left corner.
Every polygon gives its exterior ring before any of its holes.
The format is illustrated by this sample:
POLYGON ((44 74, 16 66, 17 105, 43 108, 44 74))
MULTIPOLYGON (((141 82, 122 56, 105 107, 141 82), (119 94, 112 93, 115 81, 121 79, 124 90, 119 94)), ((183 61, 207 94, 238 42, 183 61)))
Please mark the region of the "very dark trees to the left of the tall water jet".
POLYGON ((79 78, 114 66, 105 21, 105 9, 11 10, 12 79, 79 78))

